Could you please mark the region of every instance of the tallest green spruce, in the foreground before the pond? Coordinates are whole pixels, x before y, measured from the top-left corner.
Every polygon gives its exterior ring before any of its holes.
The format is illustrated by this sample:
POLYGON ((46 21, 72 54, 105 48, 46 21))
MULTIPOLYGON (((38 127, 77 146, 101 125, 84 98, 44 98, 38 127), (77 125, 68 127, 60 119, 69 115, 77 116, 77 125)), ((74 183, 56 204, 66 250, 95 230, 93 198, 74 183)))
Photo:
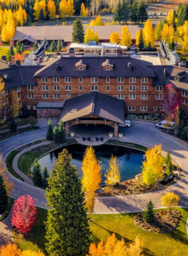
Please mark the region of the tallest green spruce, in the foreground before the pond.
POLYGON ((91 243, 81 181, 71 160, 67 150, 62 150, 48 179, 46 199, 50 209, 45 224, 49 255, 85 256, 91 243))

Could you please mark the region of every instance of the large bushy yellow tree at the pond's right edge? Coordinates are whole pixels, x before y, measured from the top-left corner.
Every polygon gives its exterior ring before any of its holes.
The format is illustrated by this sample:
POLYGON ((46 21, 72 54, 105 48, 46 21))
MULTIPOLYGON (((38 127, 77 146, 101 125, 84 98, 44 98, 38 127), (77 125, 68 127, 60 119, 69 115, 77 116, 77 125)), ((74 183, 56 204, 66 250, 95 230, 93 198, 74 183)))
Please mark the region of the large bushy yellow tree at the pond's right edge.
POLYGON ((146 151, 146 161, 142 162, 142 181, 146 185, 154 185, 162 176, 161 145, 155 145, 146 151))

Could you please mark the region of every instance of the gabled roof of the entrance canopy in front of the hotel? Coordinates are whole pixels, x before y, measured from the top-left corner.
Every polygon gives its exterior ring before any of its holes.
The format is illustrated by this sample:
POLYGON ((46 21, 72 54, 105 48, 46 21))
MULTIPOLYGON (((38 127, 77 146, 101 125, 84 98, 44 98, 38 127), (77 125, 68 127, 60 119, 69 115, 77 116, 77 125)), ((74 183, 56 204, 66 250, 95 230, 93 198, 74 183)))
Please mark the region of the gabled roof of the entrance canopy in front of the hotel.
POLYGON ((95 115, 116 123, 124 123, 124 100, 118 100, 118 98, 99 92, 89 92, 66 100, 60 119, 67 122, 87 115, 95 115))

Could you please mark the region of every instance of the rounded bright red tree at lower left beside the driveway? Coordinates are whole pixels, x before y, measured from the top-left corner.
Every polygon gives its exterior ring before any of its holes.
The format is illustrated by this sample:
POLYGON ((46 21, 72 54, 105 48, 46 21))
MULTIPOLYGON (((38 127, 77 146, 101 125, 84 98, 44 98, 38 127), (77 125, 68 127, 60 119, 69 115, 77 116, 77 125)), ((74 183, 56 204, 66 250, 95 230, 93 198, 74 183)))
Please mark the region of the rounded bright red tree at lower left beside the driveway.
POLYGON ((36 226, 37 212, 34 199, 22 195, 15 200, 12 210, 11 223, 19 233, 27 234, 36 226))

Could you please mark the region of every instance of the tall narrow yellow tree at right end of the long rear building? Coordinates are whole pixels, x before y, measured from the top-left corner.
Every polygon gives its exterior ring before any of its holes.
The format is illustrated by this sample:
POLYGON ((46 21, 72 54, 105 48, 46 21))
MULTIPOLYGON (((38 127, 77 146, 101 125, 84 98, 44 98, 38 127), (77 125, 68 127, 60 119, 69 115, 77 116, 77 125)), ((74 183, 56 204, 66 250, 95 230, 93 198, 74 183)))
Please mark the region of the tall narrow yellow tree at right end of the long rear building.
POLYGON ((152 22, 150 19, 144 22, 143 38, 146 46, 154 46, 154 30, 152 28, 152 22))

